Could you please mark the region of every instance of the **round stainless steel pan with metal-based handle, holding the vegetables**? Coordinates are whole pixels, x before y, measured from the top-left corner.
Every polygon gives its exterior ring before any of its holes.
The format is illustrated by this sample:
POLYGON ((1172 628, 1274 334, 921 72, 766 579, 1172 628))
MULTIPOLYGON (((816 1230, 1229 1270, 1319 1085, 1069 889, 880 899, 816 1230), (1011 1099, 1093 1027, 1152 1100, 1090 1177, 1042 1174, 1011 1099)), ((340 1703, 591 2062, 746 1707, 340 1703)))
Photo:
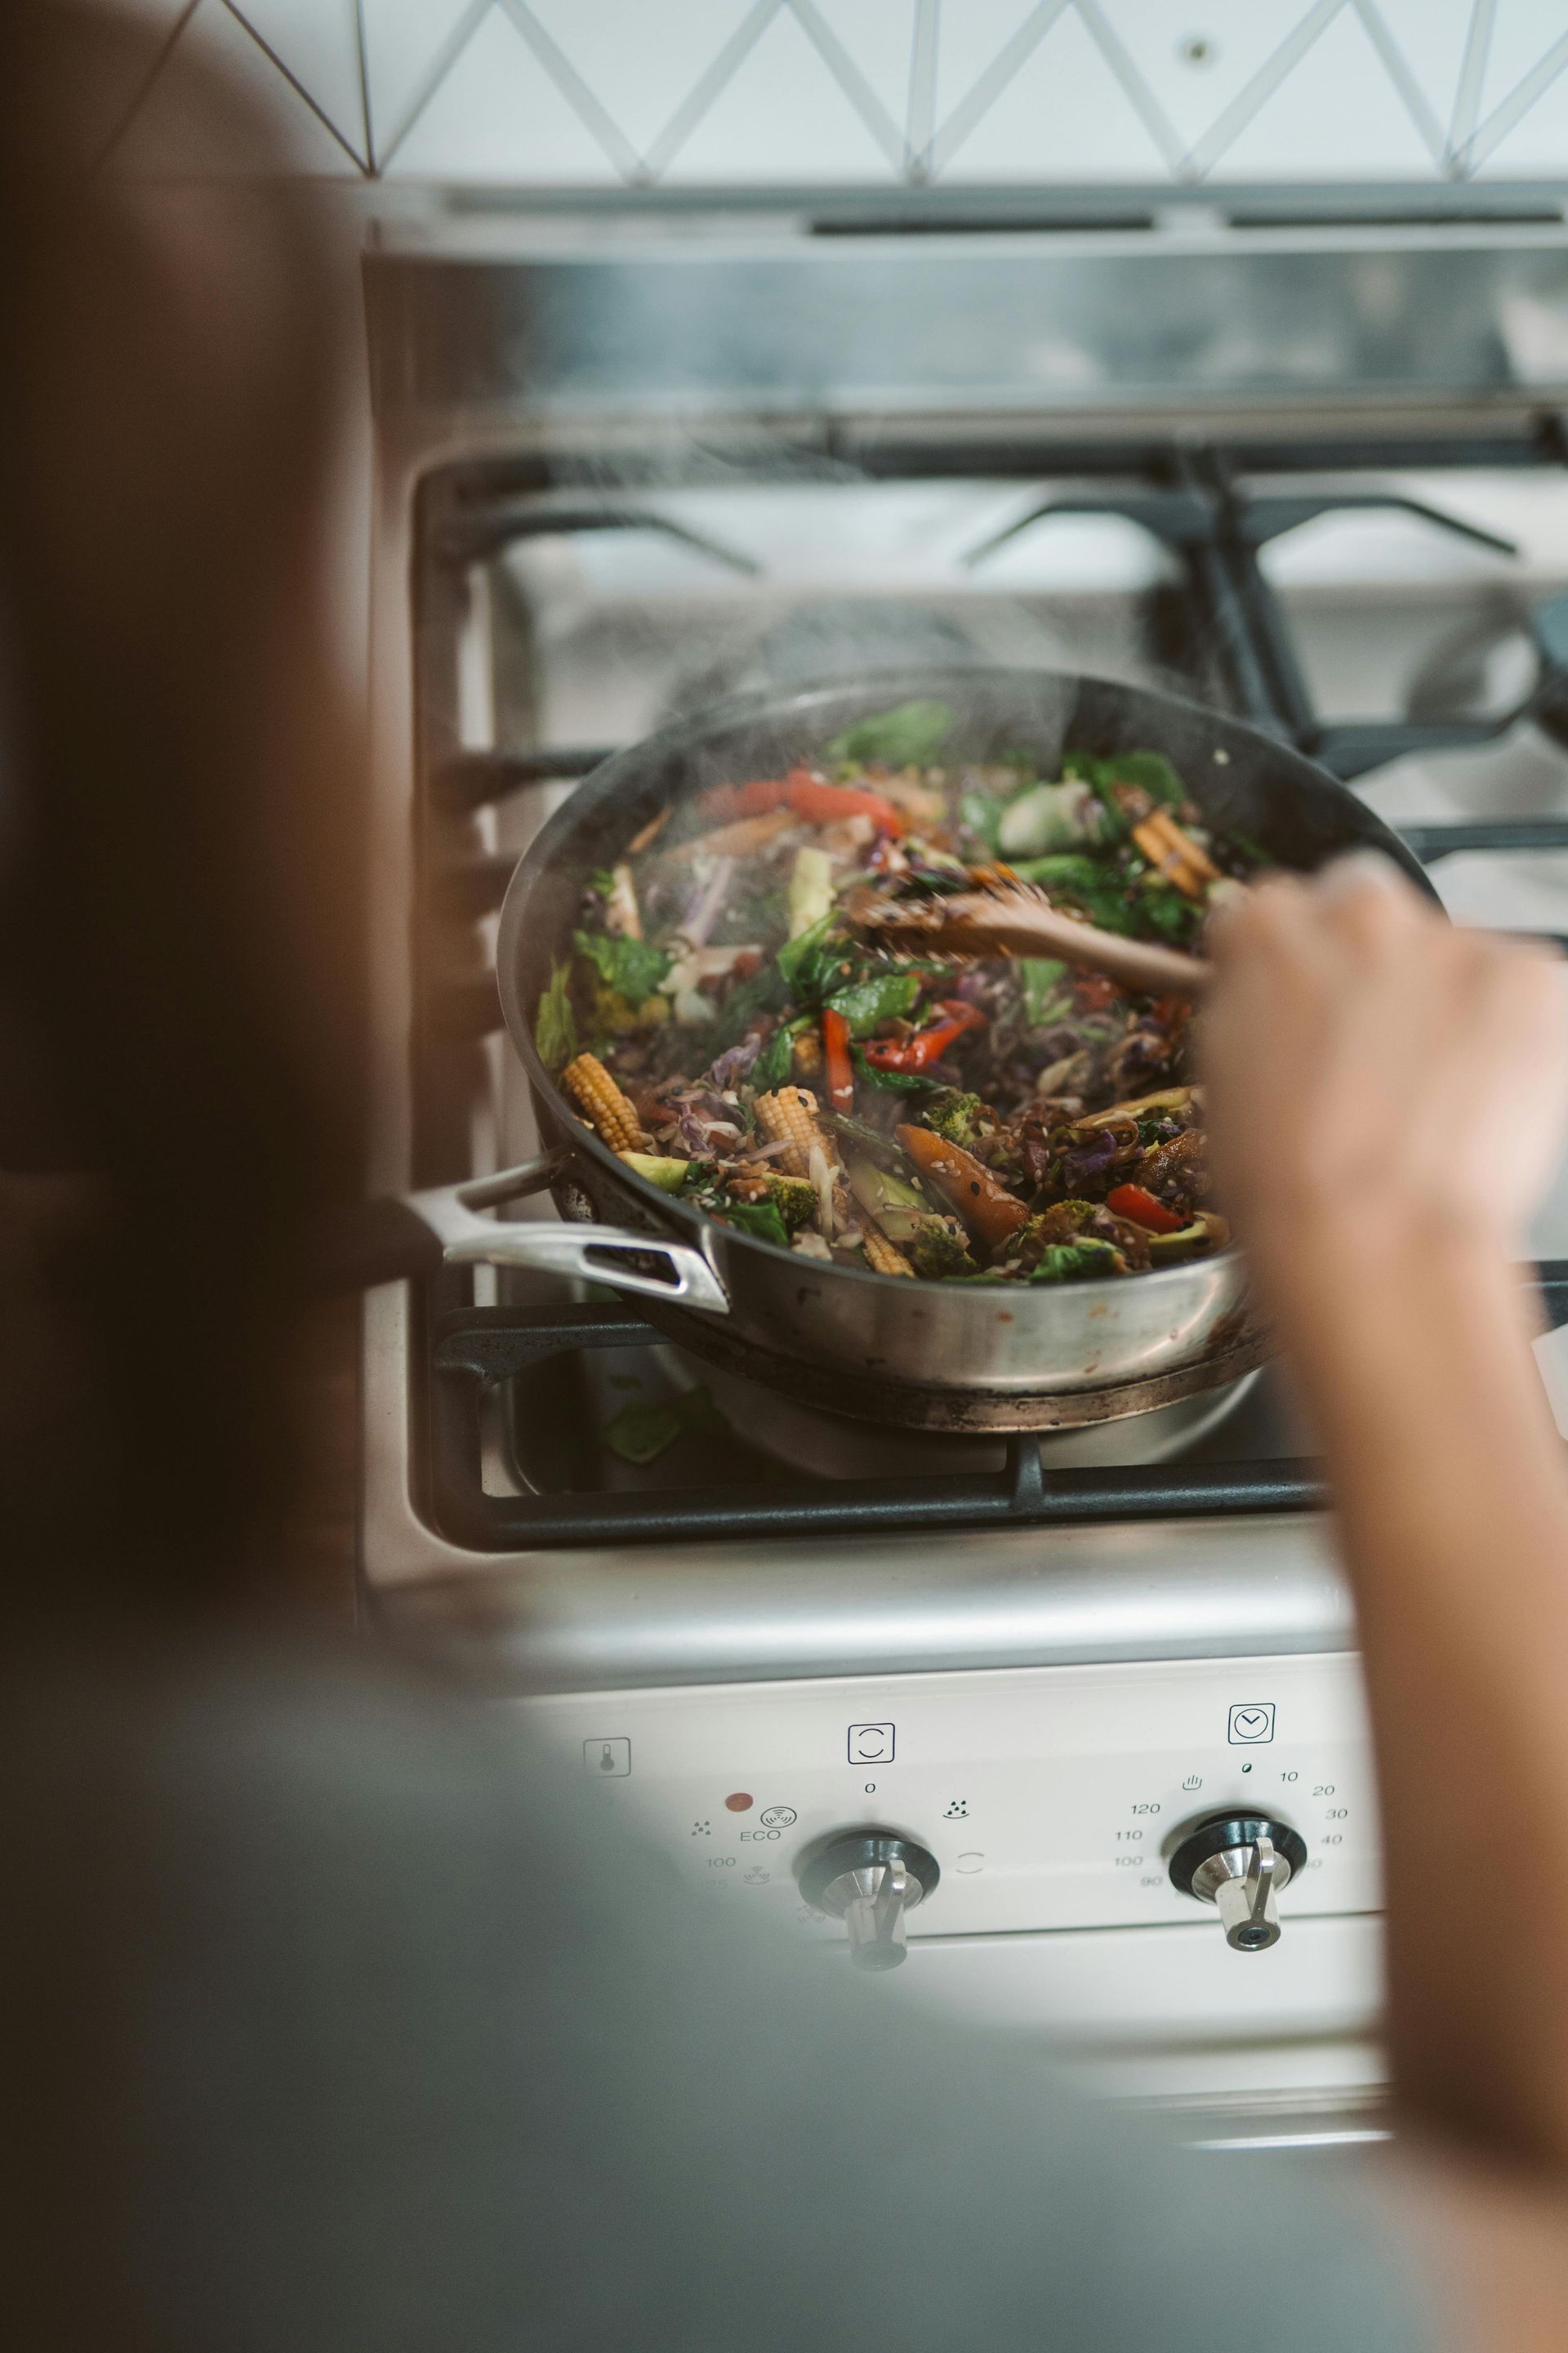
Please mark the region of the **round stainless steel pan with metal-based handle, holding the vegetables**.
POLYGON ((1342 784, 1269 736, 1197 704, 1098 678, 1041 671, 884 671, 856 685, 752 694, 665 727, 607 760, 541 831, 501 911, 505 1026, 538 1111, 545 1160, 458 1193, 425 1195, 423 1226, 447 1257, 588 1273, 637 1292, 682 1346, 811 1402, 919 1426, 1046 1426, 1107 1419, 1255 1360, 1239 1252, 1131 1280, 1067 1287, 910 1282, 795 1257, 646 1186, 588 1129, 534 1047, 534 1007, 595 868, 670 800, 710 784, 780 774, 842 727, 910 696, 957 720, 950 758, 1025 748, 1039 774, 1081 748, 1161 751, 1213 826, 1314 868, 1371 845, 1418 887, 1410 852, 1342 784), (477 1214, 548 1184, 569 1221, 477 1214), (1248 1353, 1251 1351, 1251 1353, 1248 1353), (1161 1388, 1161 1384, 1166 1384, 1161 1388))

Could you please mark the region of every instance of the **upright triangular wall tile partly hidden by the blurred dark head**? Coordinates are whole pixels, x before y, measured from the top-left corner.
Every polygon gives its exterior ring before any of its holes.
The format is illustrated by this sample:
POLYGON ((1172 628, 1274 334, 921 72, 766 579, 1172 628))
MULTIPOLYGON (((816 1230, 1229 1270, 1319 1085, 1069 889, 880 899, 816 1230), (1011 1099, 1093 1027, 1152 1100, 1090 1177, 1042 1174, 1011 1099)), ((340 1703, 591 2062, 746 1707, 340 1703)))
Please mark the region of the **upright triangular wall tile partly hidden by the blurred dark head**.
POLYGON ((357 176, 346 144, 289 85, 223 0, 197 0, 167 64, 108 155, 110 172, 148 179, 252 176, 259 160, 214 134, 202 106, 190 106, 190 68, 207 59, 249 89, 284 141, 284 162, 310 179, 357 176))

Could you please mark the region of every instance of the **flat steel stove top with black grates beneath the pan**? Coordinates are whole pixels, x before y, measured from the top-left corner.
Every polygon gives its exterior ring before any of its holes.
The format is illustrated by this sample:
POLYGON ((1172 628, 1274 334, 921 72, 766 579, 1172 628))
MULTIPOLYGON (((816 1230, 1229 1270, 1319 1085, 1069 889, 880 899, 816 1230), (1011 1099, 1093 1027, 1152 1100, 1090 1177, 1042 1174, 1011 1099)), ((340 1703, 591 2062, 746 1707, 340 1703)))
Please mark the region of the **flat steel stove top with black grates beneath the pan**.
MULTIPOLYGON (((407 678, 409 642, 414 661, 383 741, 407 791, 383 840, 407 915, 378 948, 388 1188, 536 1151, 494 988, 505 880, 611 748, 745 685, 976 659, 1168 687, 1354 781, 1458 920, 1568 932, 1568 438, 1549 402, 1403 424, 1281 405, 1229 426, 1190 407, 1093 433, 1018 412, 557 414, 425 421, 400 464, 386 666, 407 678)), ((1556 1322, 1568 1172, 1535 1247, 1556 1322)), ((1340 1642, 1300 1534, 1309 1440, 1274 1372, 1234 1369, 1197 1398, 1128 1395, 1095 1431, 889 1433, 745 1362, 696 1365, 604 1294, 444 1271, 367 1306, 367 1581, 623 1591, 635 1562, 644 1591, 691 1593, 698 1546, 710 1567, 764 1546, 806 1584, 816 1546, 844 1581, 889 1544, 961 1534, 966 1574, 990 1548, 1001 1591, 1013 1537, 1051 1527, 1053 1558, 1100 1546, 1110 1591, 1133 1555, 1201 1584, 1192 1527, 1239 1579, 1293 1560, 1302 1640, 1340 1642)), ((1547 1372, 1568 1395, 1568 1358, 1547 1372)), ((1237 1638, 1267 1621, 1241 1609, 1237 1638)))

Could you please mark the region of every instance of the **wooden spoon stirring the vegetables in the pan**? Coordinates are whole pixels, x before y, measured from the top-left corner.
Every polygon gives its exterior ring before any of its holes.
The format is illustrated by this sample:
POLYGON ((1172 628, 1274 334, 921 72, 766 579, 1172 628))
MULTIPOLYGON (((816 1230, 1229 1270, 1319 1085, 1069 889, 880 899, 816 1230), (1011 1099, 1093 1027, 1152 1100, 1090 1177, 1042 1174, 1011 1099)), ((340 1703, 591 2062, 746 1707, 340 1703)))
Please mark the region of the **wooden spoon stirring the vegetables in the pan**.
POLYGON ((945 899, 884 899, 853 913, 863 939, 905 955, 1053 955, 1145 998, 1197 998, 1211 967, 1150 939, 1121 939, 1051 906, 1030 882, 945 899))

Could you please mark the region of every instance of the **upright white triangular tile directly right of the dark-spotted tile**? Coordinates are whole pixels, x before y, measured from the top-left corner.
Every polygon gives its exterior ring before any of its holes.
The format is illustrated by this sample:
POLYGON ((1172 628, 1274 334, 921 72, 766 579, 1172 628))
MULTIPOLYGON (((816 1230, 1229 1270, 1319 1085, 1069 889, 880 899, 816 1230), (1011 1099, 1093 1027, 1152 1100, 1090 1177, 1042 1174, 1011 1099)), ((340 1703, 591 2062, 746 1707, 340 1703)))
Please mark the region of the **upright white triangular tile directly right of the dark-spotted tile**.
POLYGON ((1352 9, 1340 9, 1225 148, 1213 179, 1422 179, 1432 172, 1399 89, 1352 9))

